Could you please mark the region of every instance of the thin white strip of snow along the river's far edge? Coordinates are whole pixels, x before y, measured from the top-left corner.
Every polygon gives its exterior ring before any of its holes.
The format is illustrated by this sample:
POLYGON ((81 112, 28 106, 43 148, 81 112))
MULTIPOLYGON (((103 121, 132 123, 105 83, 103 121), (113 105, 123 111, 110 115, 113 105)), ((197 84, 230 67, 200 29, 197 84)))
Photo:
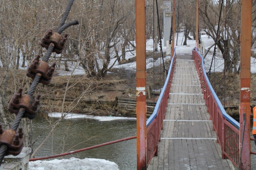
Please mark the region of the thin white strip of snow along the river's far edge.
MULTIPOLYGON (((136 120, 135 117, 113 117, 113 116, 92 116, 85 114, 63 113, 64 119, 94 119, 98 121, 112 121, 112 120, 136 120)), ((48 114, 49 117, 60 118, 61 113, 52 112, 48 114)))

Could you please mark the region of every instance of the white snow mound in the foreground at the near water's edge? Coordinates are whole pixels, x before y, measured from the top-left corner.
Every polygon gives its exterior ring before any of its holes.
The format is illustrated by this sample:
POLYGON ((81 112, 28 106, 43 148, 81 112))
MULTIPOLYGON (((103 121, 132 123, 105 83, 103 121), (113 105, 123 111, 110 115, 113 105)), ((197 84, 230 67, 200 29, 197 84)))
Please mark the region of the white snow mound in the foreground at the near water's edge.
POLYGON ((37 160, 29 162, 29 170, 119 170, 115 162, 108 160, 71 157, 63 160, 37 160))

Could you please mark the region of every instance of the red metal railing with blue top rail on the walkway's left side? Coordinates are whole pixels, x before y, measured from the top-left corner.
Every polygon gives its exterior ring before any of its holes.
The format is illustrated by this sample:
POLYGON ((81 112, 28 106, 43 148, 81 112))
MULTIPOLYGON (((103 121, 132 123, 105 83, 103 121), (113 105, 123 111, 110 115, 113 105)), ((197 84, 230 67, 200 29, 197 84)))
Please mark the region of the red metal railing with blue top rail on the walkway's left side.
POLYGON ((165 113, 168 104, 170 87, 172 84, 172 77, 174 73, 176 51, 172 56, 172 61, 170 64, 170 69, 165 81, 165 85, 161 91, 161 94, 157 100, 156 107, 153 114, 146 121, 146 133, 147 133, 147 165, 149 165, 150 160, 153 156, 157 156, 157 146, 160 141, 160 134, 163 125, 163 120, 165 119, 165 113))

